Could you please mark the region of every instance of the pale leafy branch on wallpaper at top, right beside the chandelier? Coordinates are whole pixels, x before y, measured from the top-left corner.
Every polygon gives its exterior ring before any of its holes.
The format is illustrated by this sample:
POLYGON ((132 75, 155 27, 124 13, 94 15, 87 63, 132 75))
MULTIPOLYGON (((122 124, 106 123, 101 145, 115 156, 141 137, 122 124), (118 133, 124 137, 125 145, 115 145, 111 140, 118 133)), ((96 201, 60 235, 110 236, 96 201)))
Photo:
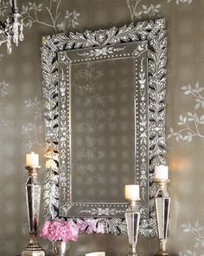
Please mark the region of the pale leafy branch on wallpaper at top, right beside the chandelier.
POLYGON ((29 2, 28 5, 22 5, 22 16, 25 27, 31 28, 34 23, 38 23, 55 31, 60 30, 66 32, 69 28, 76 28, 79 25, 78 18, 80 13, 76 10, 66 10, 61 15, 61 0, 47 0, 43 3, 29 2), (41 19, 41 12, 48 13, 49 19, 41 19))

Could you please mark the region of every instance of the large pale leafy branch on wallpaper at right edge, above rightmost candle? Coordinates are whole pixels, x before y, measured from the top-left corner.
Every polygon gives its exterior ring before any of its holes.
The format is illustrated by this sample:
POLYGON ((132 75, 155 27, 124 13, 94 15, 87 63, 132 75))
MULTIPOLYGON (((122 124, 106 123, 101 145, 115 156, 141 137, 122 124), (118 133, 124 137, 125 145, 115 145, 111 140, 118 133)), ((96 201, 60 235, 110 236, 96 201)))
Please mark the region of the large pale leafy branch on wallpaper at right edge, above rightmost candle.
POLYGON ((168 139, 175 137, 175 141, 193 141, 194 137, 204 139, 201 134, 201 126, 204 124, 204 115, 199 115, 197 112, 200 108, 204 108, 204 88, 200 87, 199 82, 196 82, 194 87, 190 84, 182 87, 184 95, 191 96, 194 99, 194 112, 187 112, 186 114, 179 115, 177 125, 181 128, 174 131, 173 128, 169 129, 168 139))

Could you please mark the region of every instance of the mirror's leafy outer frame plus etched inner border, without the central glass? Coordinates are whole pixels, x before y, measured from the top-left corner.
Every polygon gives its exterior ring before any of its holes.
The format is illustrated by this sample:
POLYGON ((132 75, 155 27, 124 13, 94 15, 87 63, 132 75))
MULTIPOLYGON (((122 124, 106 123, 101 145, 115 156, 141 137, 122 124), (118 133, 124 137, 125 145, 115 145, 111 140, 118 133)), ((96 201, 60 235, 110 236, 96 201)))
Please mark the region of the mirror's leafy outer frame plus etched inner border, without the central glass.
MULTIPOLYGON (((45 105, 46 142, 47 142, 47 174, 45 180, 45 211, 47 219, 56 217, 69 217, 67 209, 72 207, 70 200, 61 204, 61 200, 71 198, 67 186, 67 170, 71 167, 71 159, 67 157, 70 152, 70 117, 69 110, 69 66, 70 56, 67 52, 71 49, 84 49, 78 51, 79 60, 83 58, 106 58, 122 55, 128 42, 137 43, 133 51, 137 62, 137 81, 135 99, 139 102, 139 112, 135 112, 135 152, 140 156, 136 158, 137 181, 141 185, 142 195, 148 188, 148 216, 142 218, 140 233, 144 236, 156 235, 156 220, 154 217, 155 185, 152 174, 155 165, 165 164, 165 85, 166 85, 166 37, 165 22, 163 19, 153 22, 137 23, 124 26, 120 29, 113 27, 111 30, 91 32, 84 34, 70 33, 69 36, 59 34, 46 36, 42 47, 42 73, 43 73, 43 98, 45 105), (144 58, 143 55, 146 54, 144 58), (146 66, 145 66, 146 65, 146 66), (146 97, 148 95, 148 97, 146 97), (148 99, 148 101, 146 101, 148 99), (59 109, 60 108, 60 109, 59 109), (146 110, 147 109, 147 110, 146 110), (67 111, 67 112, 66 112, 67 111), (67 118, 68 116, 68 118, 67 118), (60 161, 60 168, 59 168, 60 161), (138 164, 139 162, 139 164, 138 164), (60 189, 59 189, 60 187, 60 189), (65 207, 66 206, 66 207, 65 207), (61 214, 63 213, 63 214, 61 214), (65 213, 65 214, 64 214, 65 213)), ((77 51, 76 51, 77 52, 77 51)), ((126 54, 126 53, 125 53, 126 54)), ((135 64, 135 65, 136 65, 135 64)), ((137 104, 135 110, 137 109, 137 104)), ((137 156, 136 156, 137 157, 137 156)), ((77 207, 79 207, 77 205, 77 207)), ((125 206, 124 206, 125 208, 125 206)), ((105 226, 105 233, 125 233, 123 218, 117 218, 121 211, 111 208, 110 204, 82 204, 82 211, 90 212, 95 221, 105 226), (102 214, 103 216, 100 216, 102 214), (113 214, 112 218, 108 218, 113 214), (115 216, 115 217, 114 217, 115 216)), ((145 208, 141 207, 145 213, 145 208)), ((79 216, 76 216, 79 217, 79 216)), ((82 220, 87 220, 82 218, 82 220)))

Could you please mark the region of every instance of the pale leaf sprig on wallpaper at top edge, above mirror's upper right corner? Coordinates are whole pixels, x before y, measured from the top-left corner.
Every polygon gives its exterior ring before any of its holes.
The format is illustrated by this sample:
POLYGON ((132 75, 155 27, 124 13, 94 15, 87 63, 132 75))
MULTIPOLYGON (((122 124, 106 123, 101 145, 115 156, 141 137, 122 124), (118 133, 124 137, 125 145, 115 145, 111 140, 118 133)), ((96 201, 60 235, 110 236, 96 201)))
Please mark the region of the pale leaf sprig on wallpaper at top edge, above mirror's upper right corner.
POLYGON ((141 19, 144 16, 147 16, 149 19, 151 17, 160 17, 161 14, 159 13, 159 9, 161 7, 161 4, 153 4, 150 3, 150 5, 141 5, 143 0, 126 0, 128 9, 130 10, 131 13, 131 21, 135 18, 141 19))

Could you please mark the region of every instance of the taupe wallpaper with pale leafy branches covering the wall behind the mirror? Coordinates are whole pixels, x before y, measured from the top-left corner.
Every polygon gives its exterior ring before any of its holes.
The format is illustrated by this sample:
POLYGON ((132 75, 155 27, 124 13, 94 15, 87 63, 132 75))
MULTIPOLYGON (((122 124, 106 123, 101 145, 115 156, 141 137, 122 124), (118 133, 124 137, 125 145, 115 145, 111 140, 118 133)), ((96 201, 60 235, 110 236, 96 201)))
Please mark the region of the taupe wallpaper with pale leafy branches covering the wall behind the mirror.
MULTIPOLYGON (((24 184, 25 154, 41 155, 44 130, 41 92, 41 36, 57 32, 120 27, 164 17, 168 36, 167 160, 172 198, 168 249, 172 255, 204 255, 204 1, 203 0, 39 0, 18 1, 24 41, 7 55, 0 46, 0 254, 22 252, 29 242, 24 184)), ((0 20, 9 13, 2 0, 0 20)), ((41 223, 42 223, 41 209, 41 223)), ((51 243, 41 240, 50 255, 51 243)), ((81 235, 72 255, 127 252, 124 235, 81 235)), ((156 238, 138 240, 140 255, 154 255, 156 238)))

